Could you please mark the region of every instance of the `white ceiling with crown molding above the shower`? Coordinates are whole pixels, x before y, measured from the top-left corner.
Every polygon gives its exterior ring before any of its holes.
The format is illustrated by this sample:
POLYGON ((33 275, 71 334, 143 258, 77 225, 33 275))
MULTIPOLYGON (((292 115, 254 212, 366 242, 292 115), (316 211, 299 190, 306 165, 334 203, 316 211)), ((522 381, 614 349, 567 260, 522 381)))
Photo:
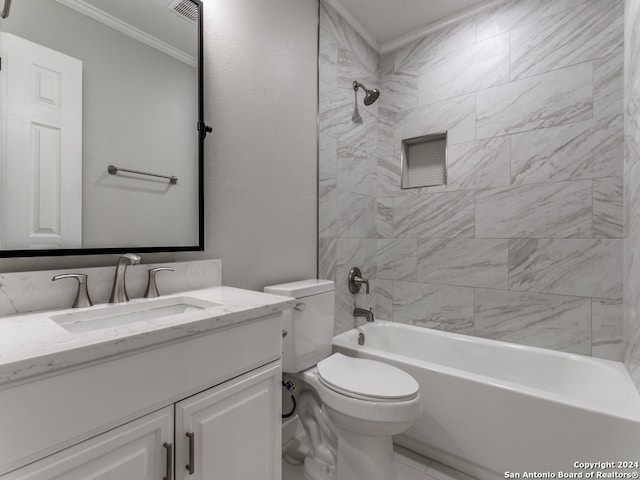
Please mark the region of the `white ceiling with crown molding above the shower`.
POLYGON ((425 30, 435 30, 452 20, 469 17, 506 1, 327 0, 380 52, 408 43, 423 35, 425 30))

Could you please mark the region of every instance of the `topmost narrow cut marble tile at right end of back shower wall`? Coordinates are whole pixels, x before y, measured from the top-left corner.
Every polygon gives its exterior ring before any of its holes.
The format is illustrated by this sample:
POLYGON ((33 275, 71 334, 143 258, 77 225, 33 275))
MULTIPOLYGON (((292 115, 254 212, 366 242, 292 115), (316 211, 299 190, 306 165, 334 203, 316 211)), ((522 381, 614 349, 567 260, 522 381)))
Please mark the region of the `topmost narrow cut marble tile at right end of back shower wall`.
POLYGON ((624 113, 624 49, 593 62, 593 115, 606 118, 624 113))

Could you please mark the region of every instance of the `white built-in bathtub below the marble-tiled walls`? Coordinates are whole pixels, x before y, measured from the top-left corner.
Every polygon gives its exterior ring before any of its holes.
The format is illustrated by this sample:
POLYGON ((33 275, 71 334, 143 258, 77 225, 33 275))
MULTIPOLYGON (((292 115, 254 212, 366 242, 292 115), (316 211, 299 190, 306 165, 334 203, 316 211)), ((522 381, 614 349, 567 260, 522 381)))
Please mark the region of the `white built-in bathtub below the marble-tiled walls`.
POLYGON ((640 395, 621 363, 379 320, 333 344, 413 375, 424 413, 395 441, 477 478, 640 471, 640 395))

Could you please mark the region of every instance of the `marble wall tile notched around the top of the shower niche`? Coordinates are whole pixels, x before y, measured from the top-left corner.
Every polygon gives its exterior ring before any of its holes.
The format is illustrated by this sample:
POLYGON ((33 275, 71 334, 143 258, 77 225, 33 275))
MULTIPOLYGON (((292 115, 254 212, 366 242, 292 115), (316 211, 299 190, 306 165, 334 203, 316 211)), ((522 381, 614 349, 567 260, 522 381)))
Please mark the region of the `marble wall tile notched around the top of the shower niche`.
POLYGON ((394 149, 400 152, 403 139, 429 133, 448 132, 447 144, 469 142, 476 132, 475 95, 455 97, 425 105, 395 116, 394 149))

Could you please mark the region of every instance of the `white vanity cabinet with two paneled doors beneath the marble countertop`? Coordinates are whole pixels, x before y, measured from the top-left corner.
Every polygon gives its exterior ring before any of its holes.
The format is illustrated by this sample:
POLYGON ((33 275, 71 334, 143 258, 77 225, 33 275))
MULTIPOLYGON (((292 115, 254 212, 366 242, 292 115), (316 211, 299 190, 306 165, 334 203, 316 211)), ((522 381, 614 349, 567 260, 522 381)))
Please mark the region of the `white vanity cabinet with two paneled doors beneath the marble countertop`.
POLYGON ((0 480, 163 480, 168 458, 280 480, 281 331, 278 311, 0 385, 0 480))

